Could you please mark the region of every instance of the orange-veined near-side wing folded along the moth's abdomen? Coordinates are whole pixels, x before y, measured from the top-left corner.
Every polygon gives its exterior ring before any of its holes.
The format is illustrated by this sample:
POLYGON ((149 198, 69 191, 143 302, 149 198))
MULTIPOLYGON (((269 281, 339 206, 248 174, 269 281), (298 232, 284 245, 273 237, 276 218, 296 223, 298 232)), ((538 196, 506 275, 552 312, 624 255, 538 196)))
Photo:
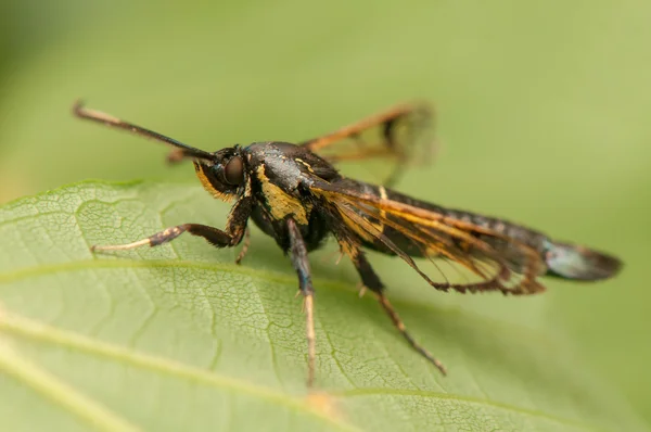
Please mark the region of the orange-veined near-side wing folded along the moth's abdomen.
POLYGON ((357 237, 381 242, 438 290, 501 291, 505 294, 533 294, 545 290, 536 280, 545 272, 545 263, 537 251, 514 239, 441 213, 337 185, 316 183, 311 190, 336 208, 357 237), (420 268, 406 251, 405 242, 430 261, 436 277, 431 276, 432 270, 420 268), (450 271, 463 281, 450 281, 447 276, 450 271))

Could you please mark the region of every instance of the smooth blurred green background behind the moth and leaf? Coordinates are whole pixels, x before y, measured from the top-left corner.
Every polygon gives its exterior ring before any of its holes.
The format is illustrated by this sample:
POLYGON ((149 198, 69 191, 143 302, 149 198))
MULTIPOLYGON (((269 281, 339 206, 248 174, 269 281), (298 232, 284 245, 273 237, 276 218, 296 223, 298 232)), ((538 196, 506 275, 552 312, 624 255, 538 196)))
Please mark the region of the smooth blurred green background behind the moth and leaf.
POLYGON ((79 97, 206 150, 429 99, 443 149, 398 188, 621 255, 612 282, 549 282, 545 314, 651 420, 651 3, 2 0, 0 16, 0 202, 195 181, 162 147, 75 120, 79 97))

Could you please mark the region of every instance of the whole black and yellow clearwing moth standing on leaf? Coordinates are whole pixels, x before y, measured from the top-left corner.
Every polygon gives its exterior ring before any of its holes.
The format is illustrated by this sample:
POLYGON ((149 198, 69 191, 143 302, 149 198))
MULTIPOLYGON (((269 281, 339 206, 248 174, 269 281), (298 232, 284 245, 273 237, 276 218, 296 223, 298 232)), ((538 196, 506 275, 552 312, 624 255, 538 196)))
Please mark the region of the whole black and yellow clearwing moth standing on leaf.
MULTIPOLYGON (((405 164, 422 150, 432 115, 426 105, 399 105, 323 137, 301 144, 268 141, 205 152, 107 114, 74 106, 74 113, 126 129, 173 147, 169 161, 190 158, 203 187, 215 198, 234 201, 226 229, 183 224, 123 245, 93 246, 94 251, 156 246, 183 232, 203 237, 217 247, 232 247, 243 239, 252 219, 288 254, 304 296, 308 341, 308 385, 315 377, 314 287, 308 252, 330 234, 357 269, 363 288, 378 298, 407 342, 443 373, 444 366, 407 332, 384 295, 384 284, 367 261, 363 249, 397 255, 438 290, 500 291, 534 294, 545 290, 540 276, 599 280, 614 276, 621 263, 610 255, 569 243, 509 221, 447 209, 398 193, 387 186, 405 164), (365 135, 374 137, 365 138, 365 135), (344 177, 335 164, 380 160, 394 169, 384 185, 344 177), (439 277, 431 277, 412 259, 429 259, 439 277), (450 282, 436 262, 464 268, 474 280, 450 282)), ((425 145, 426 148, 426 145, 425 145)))

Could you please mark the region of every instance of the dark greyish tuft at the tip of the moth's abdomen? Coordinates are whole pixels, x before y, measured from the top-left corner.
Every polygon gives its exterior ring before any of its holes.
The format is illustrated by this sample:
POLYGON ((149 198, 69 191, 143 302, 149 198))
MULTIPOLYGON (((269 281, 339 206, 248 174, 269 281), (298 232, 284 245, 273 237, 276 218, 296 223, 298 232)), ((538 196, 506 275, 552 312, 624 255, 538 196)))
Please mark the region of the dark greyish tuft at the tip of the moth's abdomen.
POLYGON ((615 276, 622 262, 612 255, 591 249, 550 242, 545 253, 547 276, 574 280, 602 280, 615 276))

